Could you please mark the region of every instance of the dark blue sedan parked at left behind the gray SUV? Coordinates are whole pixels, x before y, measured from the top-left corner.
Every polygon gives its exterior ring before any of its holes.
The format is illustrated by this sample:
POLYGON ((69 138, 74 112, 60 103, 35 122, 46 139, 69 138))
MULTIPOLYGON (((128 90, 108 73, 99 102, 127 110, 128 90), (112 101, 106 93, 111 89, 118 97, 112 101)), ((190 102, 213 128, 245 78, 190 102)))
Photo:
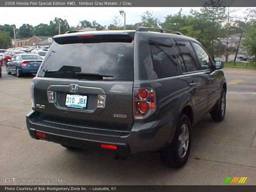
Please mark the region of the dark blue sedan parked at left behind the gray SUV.
POLYGON ((14 73, 17 77, 20 77, 22 74, 37 73, 42 61, 43 58, 37 54, 16 54, 7 63, 6 72, 8 75, 14 73))

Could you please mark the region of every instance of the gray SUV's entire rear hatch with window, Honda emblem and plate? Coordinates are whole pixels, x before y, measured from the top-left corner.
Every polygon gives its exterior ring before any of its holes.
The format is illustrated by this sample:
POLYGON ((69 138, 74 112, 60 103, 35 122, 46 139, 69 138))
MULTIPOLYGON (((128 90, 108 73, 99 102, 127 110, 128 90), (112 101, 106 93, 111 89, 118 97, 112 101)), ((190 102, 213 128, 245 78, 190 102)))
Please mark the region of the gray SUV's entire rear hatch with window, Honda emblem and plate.
POLYGON ((34 79, 35 111, 59 123, 131 130, 134 33, 76 34, 54 38, 34 79))

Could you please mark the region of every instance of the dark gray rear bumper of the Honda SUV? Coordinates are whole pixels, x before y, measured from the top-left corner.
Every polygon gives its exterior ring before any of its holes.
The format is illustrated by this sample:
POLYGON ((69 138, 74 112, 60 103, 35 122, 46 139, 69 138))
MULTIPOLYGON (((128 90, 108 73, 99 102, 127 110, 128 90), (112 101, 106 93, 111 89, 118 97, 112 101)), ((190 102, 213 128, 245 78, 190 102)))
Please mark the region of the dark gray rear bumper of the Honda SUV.
POLYGON ((170 118, 150 123, 134 123, 130 132, 120 132, 49 122, 39 119, 36 113, 31 111, 26 116, 26 124, 30 136, 34 139, 80 148, 100 148, 101 144, 116 145, 115 152, 122 155, 157 151, 173 138, 173 123, 170 118), (44 133, 46 137, 39 138, 36 132, 44 133))

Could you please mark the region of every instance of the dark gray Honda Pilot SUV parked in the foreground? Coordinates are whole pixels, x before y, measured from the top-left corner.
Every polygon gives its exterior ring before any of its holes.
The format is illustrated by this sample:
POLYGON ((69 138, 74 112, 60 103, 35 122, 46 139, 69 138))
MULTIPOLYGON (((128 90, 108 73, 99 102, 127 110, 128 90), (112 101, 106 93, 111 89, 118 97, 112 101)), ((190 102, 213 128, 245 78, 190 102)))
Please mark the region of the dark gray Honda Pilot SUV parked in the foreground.
POLYGON ((119 156, 159 151, 167 166, 184 165, 192 125, 207 113, 223 120, 227 85, 221 61, 213 63, 195 39, 170 32, 54 36, 32 81, 30 136, 119 156))

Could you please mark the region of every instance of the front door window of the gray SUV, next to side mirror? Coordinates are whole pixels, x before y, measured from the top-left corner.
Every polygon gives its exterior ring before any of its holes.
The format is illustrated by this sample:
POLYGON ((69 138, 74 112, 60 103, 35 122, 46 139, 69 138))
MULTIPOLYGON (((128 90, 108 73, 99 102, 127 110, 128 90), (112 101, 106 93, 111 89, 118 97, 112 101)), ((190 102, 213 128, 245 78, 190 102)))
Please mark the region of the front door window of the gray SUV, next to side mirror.
POLYGON ((209 69, 211 66, 211 61, 209 56, 207 55, 207 53, 204 51, 204 49, 197 43, 192 43, 194 48, 195 48, 195 52, 197 54, 197 57, 199 59, 199 63, 201 65, 201 69, 202 70, 206 70, 209 69))

